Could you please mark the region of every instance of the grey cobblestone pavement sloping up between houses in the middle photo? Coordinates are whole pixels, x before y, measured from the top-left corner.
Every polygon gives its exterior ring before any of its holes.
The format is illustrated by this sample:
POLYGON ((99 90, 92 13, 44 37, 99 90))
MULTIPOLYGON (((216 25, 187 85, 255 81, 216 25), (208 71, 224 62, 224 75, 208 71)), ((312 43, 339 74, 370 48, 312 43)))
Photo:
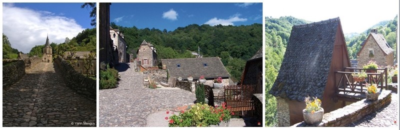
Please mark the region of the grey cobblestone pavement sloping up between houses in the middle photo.
POLYGON ((144 75, 135 72, 133 64, 119 75, 117 88, 99 91, 99 126, 144 127, 150 113, 195 100, 194 93, 181 89, 144 88, 144 75))

